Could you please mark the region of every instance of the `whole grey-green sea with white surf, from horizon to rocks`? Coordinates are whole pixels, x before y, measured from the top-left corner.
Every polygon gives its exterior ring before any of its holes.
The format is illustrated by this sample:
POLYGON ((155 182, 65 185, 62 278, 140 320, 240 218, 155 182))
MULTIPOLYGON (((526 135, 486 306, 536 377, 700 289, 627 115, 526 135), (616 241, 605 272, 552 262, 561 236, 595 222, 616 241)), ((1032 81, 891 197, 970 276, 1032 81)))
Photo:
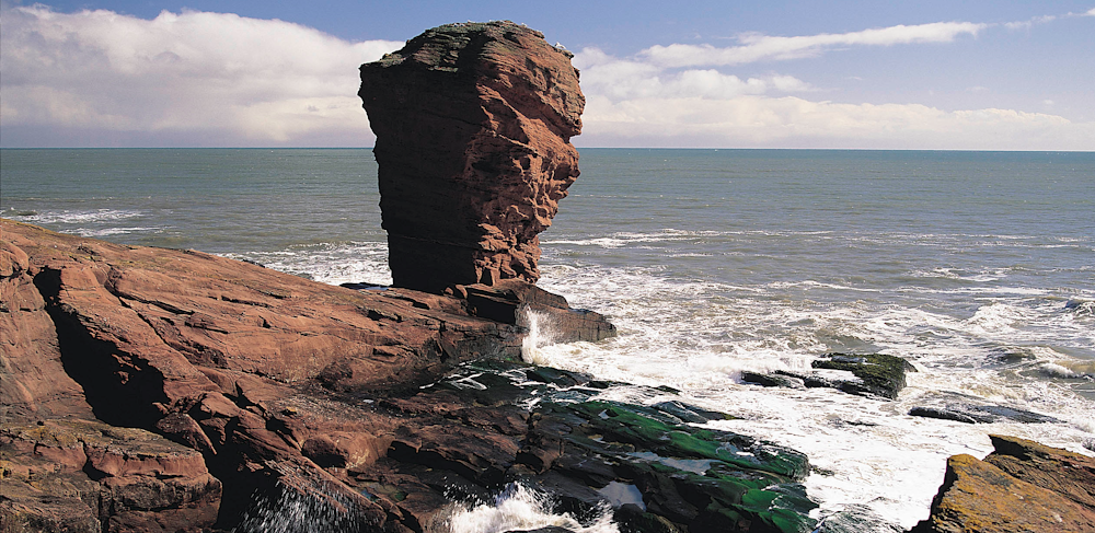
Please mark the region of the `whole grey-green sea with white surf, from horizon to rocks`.
MULTIPOLYGON (((620 334, 545 326, 529 361, 734 415, 710 424, 805 452, 816 518, 866 509, 864 532, 925 519, 946 459, 990 433, 1095 455, 1095 153, 580 149, 580 169, 540 285, 620 334), (741 379, 832 352, 917 372, 896 401, 741 379), (909 415, 947 398, 1050 421, 909 415)), ((391 282, 369 149, 5 149, 0 190, 0 216, 56 231, 391 282)), ((544 501, 508 490, 452 533, 616 531, 544 501)))

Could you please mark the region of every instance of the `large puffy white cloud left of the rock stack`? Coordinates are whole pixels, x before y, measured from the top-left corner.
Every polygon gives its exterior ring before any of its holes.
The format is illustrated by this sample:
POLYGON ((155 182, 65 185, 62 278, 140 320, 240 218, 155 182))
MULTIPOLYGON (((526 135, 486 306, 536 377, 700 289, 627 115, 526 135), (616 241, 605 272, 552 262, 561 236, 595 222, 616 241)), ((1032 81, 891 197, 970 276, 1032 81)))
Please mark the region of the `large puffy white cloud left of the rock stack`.
POLYGON ((244 146, 309 136, 368 146, 357 67, 403 46, 193 11, 142 20, 16 7, 4 10, 2 24, 0 124, 8 135, 150 132, 195 146, 205 144, 204 135, 244 146))

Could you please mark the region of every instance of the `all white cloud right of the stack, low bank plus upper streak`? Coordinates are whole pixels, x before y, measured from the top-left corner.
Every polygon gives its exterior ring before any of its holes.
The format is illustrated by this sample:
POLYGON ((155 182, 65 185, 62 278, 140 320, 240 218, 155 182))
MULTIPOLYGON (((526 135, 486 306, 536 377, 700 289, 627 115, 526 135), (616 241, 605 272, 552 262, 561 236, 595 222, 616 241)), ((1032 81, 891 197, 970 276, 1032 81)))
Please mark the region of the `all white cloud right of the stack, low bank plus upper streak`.
MULTIPOLYGON (((584 132, 576 141, 590 147, 1095 148, 1093 123, 1014 109, 814 102, 803 93, 818 88, 796 77, 741 78, 719 70, 812 57, 838 47, 950 43, 989 26, 940 22, 798 37, 748 34, 738 37, 738 46, 672 44, 630 58, 587 48, 574 59, 581 69, 587 99, 584 132)), ((987 93, 989 89, 975 85, 967 91, 987 93)))

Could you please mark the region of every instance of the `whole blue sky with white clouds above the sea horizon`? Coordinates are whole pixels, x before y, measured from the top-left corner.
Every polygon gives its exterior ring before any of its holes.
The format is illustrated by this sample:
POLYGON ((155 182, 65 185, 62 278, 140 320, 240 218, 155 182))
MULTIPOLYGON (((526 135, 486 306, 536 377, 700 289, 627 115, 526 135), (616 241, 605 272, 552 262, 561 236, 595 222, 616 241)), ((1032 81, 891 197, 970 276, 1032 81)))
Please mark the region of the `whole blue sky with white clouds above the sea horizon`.
POLYGON ((0 0, 0 147, 371 147, 358 67, 511 20, 583 147, 1095 150, 1095 0, 0 0))

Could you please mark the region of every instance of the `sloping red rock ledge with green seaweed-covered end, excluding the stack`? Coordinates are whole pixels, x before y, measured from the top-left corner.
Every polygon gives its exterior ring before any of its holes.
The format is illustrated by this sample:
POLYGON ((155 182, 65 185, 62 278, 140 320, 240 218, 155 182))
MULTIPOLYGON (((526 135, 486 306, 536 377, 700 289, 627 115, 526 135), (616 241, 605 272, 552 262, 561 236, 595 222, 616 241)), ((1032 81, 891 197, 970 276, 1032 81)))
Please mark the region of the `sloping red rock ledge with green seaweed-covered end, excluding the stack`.
POLYGON ((802 454, 520 362, 519 310, 561 304, 523 281, 355 290, 0 235, 0 531, 443 531, 507 487, 631 531, 814 523, 802 454))

